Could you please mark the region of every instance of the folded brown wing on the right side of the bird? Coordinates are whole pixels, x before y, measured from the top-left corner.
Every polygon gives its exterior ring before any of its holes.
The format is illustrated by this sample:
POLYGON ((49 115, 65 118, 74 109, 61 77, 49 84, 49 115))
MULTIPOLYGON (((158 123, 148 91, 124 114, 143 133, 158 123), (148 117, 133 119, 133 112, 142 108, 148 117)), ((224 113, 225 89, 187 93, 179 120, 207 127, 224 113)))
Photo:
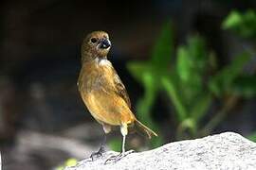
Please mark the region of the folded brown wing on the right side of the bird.
POLYGON ((128 107, 131 109, 131 101, 130 101, 129 95, 126 92, 126 89, 125 89, 124 85, 122 84, 117 73, 115 73, 115 76, 114 76, 114 85, 115 85, 116 93, 118 93, 118 95, 126 102, 128 107))

